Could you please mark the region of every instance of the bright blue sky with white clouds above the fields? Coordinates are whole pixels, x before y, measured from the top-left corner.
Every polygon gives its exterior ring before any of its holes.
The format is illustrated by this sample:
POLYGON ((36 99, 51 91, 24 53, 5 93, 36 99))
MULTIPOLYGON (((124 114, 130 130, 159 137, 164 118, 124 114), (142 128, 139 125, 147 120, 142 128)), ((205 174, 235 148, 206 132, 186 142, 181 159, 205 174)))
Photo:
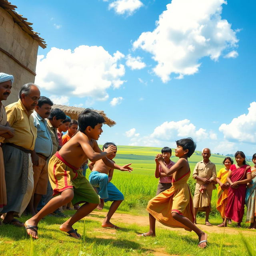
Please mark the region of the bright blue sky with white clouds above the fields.
POLYGON ((99 143, 174 147, 191 136, 197 150, 256 152, 254 1, 12 4, 48 44, 41 94, 117 122, 99 143))

